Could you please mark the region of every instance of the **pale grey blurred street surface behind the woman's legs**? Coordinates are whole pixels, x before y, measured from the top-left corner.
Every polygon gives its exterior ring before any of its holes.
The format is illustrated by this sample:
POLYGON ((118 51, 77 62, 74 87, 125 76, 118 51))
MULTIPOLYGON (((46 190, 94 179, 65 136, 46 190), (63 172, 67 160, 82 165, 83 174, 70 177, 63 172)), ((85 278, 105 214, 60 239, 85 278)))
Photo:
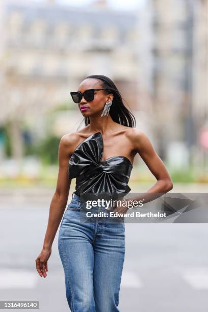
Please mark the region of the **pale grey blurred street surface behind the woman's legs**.
MULTIPOLYGON (((6 194, 1 199, 1 300, 39 301, 42 312, 69 311, 58 235, 47 277, 40 277, 35 269, 50 197, 28 200, 6 194)), ((120 311, 207 311, 207 224, 126 223, 125 233, 120 311)))

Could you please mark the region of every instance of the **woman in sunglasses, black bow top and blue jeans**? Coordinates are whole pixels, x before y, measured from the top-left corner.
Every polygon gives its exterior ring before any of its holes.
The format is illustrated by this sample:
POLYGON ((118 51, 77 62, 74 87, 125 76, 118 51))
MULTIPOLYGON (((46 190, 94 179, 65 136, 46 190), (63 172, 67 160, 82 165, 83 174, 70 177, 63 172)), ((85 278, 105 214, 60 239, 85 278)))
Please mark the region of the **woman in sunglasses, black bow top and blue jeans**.
MULTIPOLYGON (((134 128, 135 118, 124 106, 111 79, 103 75, 87 76, 79 91, 71 92, 71 96, 85 117, 86 126, 61 138, 57 188, 36 268, 40 276, 46 277, 47 261, 67 204, 71 179, 76 177, 76 190, 62 219, 58 239, 68 304, 75 312, 119 311, 124 220, 122 215, 108 218, 106 204, 92 207, 92 217, 88 218, 85 196, 117 194, 123 198, 131 190, 127 183, 137 153, 157 178, 148 194, 142 196, 143 202, 171 190, 172 181, 147 136, 134 128), (93 215, 95 212, 107 215, 100 219, 93 215)), ((113 205, 113 209, 113 213, 128 210, 122 201, 113 205)))

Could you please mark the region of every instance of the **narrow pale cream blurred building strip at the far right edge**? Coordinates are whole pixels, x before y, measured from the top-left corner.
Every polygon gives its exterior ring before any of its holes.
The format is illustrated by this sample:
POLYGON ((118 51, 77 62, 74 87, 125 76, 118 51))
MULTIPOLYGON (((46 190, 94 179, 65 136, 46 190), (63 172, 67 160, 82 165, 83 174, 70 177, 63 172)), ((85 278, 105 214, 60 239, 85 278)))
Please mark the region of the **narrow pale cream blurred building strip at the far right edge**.
MULTIPOLYGON (((208 1, 199 0, 194 10, 193 35, 193 106, 197 138, 202 129, 208 132, 208 1)), ((208 140, 208 139, 207 139, 208 140)), ((208 171, 208 150, 203 150, 200 140, 193 146, 194 161, 202 164, 202 169, 208 171)), ((208 142, 206 143, 208 145, 208 142)))

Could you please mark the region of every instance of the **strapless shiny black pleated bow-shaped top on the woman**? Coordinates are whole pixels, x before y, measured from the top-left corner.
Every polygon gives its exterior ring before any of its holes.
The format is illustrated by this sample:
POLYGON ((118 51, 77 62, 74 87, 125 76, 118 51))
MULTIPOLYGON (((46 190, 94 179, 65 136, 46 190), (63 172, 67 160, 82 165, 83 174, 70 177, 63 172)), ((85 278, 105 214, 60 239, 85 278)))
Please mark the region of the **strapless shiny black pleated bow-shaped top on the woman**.
POLYGON ((127 185, 133 165, 124 156, 110 157, 101 161, 103 154, 103 138, 97 132, 73 151, 69 160, 68 177, 76 177, 75 194, 128 193, 131 188, 127 185))

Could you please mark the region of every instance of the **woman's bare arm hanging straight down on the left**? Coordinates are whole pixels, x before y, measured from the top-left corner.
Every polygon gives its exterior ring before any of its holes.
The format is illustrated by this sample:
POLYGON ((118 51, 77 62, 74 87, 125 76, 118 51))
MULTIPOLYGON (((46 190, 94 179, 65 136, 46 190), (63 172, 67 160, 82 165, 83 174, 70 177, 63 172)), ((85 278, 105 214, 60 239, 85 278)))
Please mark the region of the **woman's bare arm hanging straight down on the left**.
POLYGON ((71 179, 68 178, 68 162, 71 157, 71 153, 70 134, 67 134, 61 138, 59 143, 59 172, 56 191, 50 203, 48 224, 42 251, 35 260, 36 269, 41 277, 46 277, 47 275, 47 261, 51 254, 51 247, 68 200, 69 188, 71 185, 71 179))

